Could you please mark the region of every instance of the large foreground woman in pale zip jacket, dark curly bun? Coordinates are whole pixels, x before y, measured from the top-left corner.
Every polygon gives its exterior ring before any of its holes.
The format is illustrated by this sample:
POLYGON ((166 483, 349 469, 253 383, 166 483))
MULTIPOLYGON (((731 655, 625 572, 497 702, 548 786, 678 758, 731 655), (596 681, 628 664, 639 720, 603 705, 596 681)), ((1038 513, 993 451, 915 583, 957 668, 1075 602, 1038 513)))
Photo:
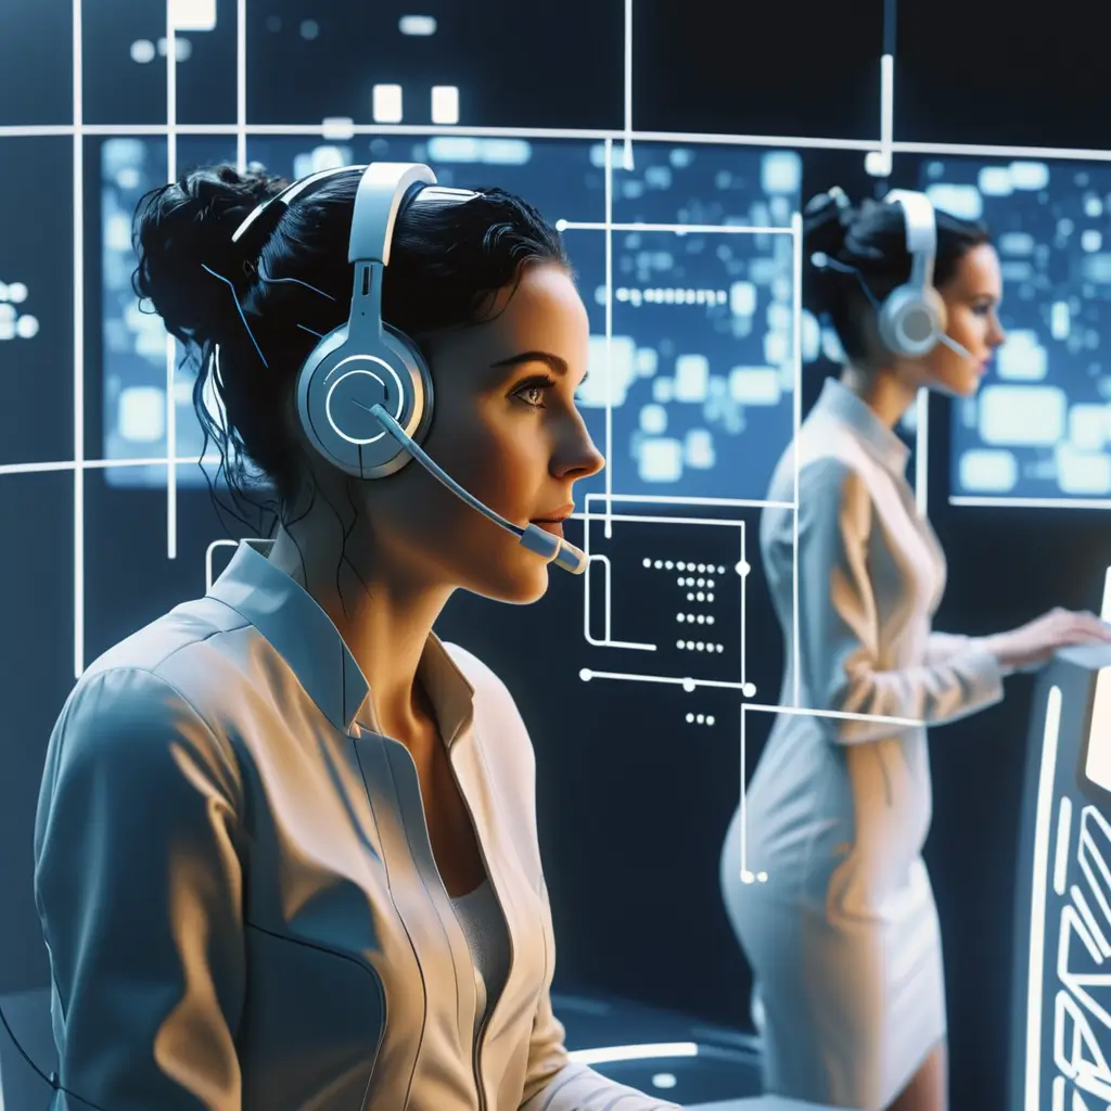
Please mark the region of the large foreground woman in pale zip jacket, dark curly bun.
MULTIPOLYGON (((302 361, 350 311, 360 179, 236 242, 282 182, 198 170, 137 214, 137 291, 199 351, 199 416, 232 480, 244 457, 269 477, 278 523, 96 661, 54 729, 36 894, 56 1105, 671 1107, 569 1061, 528 733, 498 677, 432 632, 460 588, 540 598, 547 563, 418 466, 330 468, 294 419, 302 361)), ((430 197, 402 207, 382 286, 434 379, 426 447, 558 534, 602 467, 563 248, 500 190, 430 197)))

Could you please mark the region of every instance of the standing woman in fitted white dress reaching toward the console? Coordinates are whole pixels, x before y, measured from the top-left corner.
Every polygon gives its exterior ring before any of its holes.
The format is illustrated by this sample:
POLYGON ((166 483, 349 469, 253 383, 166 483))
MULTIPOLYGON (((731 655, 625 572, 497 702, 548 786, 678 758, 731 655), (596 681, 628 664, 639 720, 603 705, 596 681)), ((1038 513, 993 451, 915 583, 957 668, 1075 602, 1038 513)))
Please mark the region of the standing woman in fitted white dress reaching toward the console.
POLYGON ((754 973, 769 1089, 862 1111, 947 1107, 941 937, 921 855, 925 727, 993 705, 1009 672, 1105 637, 1092 614, 1063 610, 988 638, 931 629, 945 560, 917 512, 893 427, 920 389, 975 394, 1004 340, 1002 290, 987 230, 925 209, 941 341, 917 358, 895 354, 877 310, 911 276, 905 203, 855 209, 832 190, 807 211, 815 292, 845 366, 768 494, 793 502, 798 452, 798 645, 792 511, 765 510, 760 533, 787 641, 781 704, 795 704, 797 660, 798 705, 887 720, 779 715, 747 798, 747 868, 767 881, 742 881, 740 812, 721 870, 754 973))

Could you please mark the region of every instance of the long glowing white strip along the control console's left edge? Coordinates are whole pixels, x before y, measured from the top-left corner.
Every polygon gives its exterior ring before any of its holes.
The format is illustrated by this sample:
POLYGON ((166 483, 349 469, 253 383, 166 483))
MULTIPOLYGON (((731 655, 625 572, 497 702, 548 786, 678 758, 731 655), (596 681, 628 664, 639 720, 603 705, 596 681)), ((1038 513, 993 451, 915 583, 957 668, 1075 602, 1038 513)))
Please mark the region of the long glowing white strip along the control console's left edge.
POLYGON ((1042 980, 1045 963, 1045 898, 1049 870, 1050 823, 1053 820, 1053 780, 1061 730, 1061 688, 1051 687, 1045 704, 1038 801, 1034 808, 1034 843, 1030 883, 1030 962, 1027 971, 1027 1093, 1025 1111, 1041 1111, 1042 980))

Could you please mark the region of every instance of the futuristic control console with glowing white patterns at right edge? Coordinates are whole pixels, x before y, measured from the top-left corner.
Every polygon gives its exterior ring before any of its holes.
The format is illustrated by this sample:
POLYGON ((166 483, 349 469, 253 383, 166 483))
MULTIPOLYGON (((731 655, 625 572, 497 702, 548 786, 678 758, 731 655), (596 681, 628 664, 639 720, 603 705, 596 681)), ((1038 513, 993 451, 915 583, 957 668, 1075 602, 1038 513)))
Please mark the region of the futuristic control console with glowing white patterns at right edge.
POLYGON ((1031 714, 1011 1111, 1111 1103, 1111 647, 1058 653, 1031 714))

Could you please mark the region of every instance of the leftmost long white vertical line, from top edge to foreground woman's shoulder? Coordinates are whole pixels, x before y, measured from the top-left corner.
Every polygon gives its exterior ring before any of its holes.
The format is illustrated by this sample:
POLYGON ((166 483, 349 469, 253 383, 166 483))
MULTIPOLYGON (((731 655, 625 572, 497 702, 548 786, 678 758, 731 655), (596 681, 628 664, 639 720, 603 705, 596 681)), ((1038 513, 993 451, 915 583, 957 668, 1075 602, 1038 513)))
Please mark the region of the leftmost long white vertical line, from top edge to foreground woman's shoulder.
POLYGON ((84 82, 81 0, 73 0, 73 678, 84 671, 84 82))

